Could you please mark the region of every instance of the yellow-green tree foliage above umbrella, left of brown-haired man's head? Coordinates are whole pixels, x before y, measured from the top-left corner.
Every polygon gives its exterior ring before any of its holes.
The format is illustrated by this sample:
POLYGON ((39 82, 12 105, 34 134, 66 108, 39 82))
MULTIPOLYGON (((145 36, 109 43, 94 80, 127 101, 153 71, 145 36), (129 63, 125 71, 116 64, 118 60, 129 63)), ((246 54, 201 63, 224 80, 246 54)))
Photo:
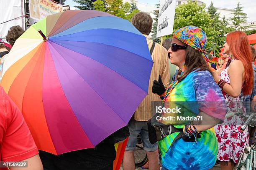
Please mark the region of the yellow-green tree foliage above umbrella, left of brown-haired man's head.
POLYGON ((107 6, 107 13, 127 19, 126 14, 131 7, 128 2, 123 3, 123 0, 106 0, 105 2, 107 6))

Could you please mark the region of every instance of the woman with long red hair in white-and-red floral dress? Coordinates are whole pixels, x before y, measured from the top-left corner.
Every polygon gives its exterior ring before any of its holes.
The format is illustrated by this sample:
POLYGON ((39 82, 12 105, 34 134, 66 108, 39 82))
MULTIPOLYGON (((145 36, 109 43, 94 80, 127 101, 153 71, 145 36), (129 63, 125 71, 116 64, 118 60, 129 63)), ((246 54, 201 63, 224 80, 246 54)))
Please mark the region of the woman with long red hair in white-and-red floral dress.
POLYGON ((215 133, 219 148, 218 160, 222 161, 221 170, 232 170, 248 143, 248 130, 240 131, 243 120, 239 116, 239 113, 246 112, 239 99, 241 89, 244 95, 248 95, 254 85, 247 35, 242 31, 230 32, 226 37, 224 52, 231 56, 230 65, 220 76, 215 72, 214 80, 223 90, 228 112, 223 124, 215 126, 215 133))

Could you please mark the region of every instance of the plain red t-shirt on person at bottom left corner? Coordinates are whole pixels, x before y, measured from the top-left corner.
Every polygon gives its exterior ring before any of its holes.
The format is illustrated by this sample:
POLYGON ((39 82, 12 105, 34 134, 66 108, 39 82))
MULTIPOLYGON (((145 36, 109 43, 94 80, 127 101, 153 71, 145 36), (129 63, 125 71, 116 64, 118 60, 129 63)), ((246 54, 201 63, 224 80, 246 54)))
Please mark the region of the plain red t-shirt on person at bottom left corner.
POLYGON ((23 115, 0 87, 0 160, 18 162, 37 154, 38 149, 23 115))

